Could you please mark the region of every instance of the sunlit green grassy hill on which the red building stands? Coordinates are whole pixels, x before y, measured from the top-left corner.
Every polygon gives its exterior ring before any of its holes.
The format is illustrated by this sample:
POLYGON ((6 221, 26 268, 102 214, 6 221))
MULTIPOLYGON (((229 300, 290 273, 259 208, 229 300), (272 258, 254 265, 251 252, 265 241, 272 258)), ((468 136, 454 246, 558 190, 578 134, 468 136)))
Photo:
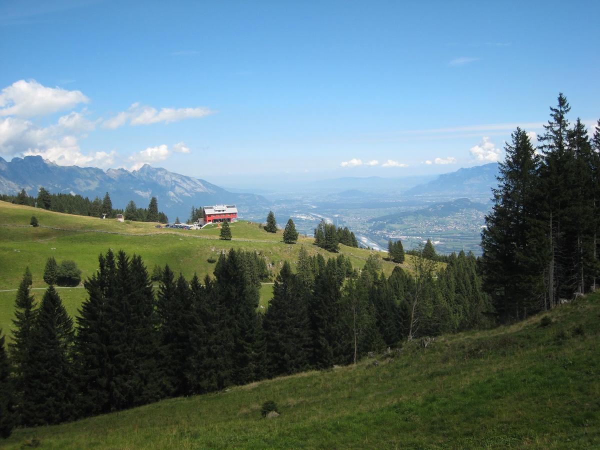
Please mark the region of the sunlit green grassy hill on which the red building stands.
MULTIPOLYGON (((276 275, 284 260, 295 263, 300 245, 304 244, 310 254, 321 253, 325 257, 335 256, 315 245, 314 239, 301 236, 298 244, 289 245, 282 241, 283 232, 267 233, 256 223, 238 221, 231 225, 232 241, 221 241, 220 229, 209 226, 203 230, 157 229, 154 223, 118 222, 82 217, 29 206, 13 205, 0 201, 0 291, 16 289, 26 266, 31 269, 34 288, 46 287, 43 281, 44 266, 48 257, 59 262, 74 260, 82 270, 82 280, 94 274, 98 268, 98 254, 109 248, 137 253, 151 271, 155 264, 169 266, 186 278, 197 273, 200 278, 212 274, 214 263, 208 259, 218 258, 221 251, 230 248, 257 251, 276 275), (31 216, 37 217, 40 227, 29 226, 31 216)), ((340 245, 340 253, 350 257, 352 265, 364 266, 371 253, 361 248, 340 245)), ((410 270, 411 257, 407 256, 403 267, 410 270)), ((395 264, 383 262, 383 271, 391 274, 395 264)), ((43 290, 34 290, 41 298, 43 290)), ((85 289, 61 289, 61 298, 68 312, 75 314, 85 298, 85 289)), ((0 328, 8 332, 13 318, 15 292, 0 292, 0 328)), ((271 286, 263 286, 261 304, 265 306, 272 295, 271 286)))

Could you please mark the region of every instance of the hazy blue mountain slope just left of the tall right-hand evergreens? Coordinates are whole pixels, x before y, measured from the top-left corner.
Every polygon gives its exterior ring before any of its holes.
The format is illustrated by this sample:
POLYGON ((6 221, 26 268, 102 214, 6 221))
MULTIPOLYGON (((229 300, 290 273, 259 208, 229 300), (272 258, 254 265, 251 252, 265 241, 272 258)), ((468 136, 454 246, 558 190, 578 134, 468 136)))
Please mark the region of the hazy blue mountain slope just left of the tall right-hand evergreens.
POLYGON ((430 182, 415 186, 404 194, 406 196, 468 196, 488 199, 492 196, 491 188, 498 185, 496 175, 498 175, 497 163, 458 169, 456 172, 444 173, 430 182))

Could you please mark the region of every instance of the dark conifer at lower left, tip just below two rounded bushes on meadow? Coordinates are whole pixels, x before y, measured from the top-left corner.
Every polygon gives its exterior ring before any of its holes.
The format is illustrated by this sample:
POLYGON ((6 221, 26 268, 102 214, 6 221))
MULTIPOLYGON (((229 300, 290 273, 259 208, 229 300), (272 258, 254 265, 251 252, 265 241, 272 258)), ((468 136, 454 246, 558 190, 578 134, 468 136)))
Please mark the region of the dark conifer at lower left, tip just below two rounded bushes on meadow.
POLYGON ((62 305, 54 286, 48 287, 31 330, 31 363, 23 402, 21 423, 26 426, 58 424, 73 418, 73 373, 70 364, 73 320, 62 305))

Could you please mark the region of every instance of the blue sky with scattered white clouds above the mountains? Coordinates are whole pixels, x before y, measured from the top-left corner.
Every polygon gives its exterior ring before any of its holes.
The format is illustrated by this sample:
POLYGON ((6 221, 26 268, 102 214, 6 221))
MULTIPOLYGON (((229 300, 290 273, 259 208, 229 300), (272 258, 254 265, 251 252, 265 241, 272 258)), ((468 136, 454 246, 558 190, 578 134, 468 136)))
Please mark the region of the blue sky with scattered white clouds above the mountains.
POLYGON ((502 158, 517 125, 539 133, 559 92, 592 126, 599 13, 597 1, 4 1, 0 155, 149 163, 230 186, 450 172, 502 158))

